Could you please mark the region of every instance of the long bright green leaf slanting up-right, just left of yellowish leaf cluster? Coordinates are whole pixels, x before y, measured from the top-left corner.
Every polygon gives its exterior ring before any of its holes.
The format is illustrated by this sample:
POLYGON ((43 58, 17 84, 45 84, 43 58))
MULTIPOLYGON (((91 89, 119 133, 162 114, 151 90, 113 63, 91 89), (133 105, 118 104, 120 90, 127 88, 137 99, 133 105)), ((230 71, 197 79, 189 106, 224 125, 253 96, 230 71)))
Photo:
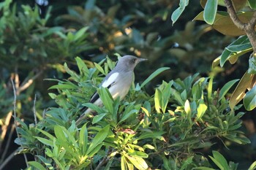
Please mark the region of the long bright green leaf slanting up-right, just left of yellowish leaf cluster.
POLYGON ((90 152, 94 150, 95 147, 97 147, 100 143, 104 141, 104 139, 108 136, 108 131, 110 129, 110 125, 106 125, 105 128, 102 128, 97 135, 94 137, 94 140, 91 142, 86 155, 89 155, 90 152))

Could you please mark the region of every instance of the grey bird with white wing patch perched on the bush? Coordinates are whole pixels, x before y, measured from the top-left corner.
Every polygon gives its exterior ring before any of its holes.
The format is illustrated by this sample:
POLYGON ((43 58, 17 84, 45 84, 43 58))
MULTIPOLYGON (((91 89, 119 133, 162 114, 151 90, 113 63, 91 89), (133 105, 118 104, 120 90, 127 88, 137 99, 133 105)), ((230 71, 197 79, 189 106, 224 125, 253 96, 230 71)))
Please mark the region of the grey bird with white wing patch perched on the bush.
MULTIPOLYGON (((120 100, 122 100, 127 95, 129 88, 132 85, 133 71, 135 66, 137 66, 137 64, 141 61, 146 60, 147 59, 137 58, 132 55, 124 55, 118 60, 116 67, 110 73, 108 73, 108 75, 104 78, 104 80, 102 80, 102 83, 99 86, 108 88, 111 96, 114 99, 120 97, 120 100)), ((96 104, 97 106, 102 105, 102 101, 99 98, 98 93, 94 93, 89 102, 96 104)), ((87 107, 83 107, 81 111, 83 114, 76 121, 76 125, 79 125, 84 117, 92 112, 92 110, 87 107)))

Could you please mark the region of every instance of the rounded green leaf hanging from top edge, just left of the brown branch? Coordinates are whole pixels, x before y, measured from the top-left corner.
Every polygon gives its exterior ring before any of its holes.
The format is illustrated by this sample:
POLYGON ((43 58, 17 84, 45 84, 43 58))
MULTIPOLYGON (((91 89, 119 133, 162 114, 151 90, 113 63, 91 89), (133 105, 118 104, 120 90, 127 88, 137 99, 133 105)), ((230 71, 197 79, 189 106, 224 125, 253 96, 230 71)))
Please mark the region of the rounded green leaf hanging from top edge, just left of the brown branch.
POLYGON ((218 1, 217 0, 207 0, 206 7, 203 11, 203 19, 206 23, 212 25, 215 20, 217 12, 218 1))

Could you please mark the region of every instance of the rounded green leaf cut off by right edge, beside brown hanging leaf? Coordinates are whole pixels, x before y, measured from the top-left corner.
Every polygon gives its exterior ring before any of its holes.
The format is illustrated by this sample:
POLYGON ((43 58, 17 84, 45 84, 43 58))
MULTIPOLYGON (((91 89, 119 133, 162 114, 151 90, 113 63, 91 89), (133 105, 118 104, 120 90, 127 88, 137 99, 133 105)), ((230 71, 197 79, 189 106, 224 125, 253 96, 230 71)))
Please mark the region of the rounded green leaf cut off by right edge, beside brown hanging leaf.
POLYGON ((244 107, 246 110, 251 111, 256 107, 256 85, 249 90, 244 96, 244 107))

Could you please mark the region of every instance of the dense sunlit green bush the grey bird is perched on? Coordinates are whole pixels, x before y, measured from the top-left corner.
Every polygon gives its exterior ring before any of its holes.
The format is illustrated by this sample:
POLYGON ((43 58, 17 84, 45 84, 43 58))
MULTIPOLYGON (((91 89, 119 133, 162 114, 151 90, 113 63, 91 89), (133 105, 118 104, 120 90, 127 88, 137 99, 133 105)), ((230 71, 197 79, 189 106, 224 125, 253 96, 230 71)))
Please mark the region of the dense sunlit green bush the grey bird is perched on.
POLYGON ((50 93, 59 107, 49 108, 36 125, 19 121, 16 142, 20 152, 34 155, 29 165, 37 169, 192 169, 210 166, 199 150, 211 147, 215 139, 249 143, 238 130, 244 113, 227 109, 225 94, 232 82, 217 92, 212 79, 195 74, 162 82, 153 96, 148 95, 143 85, 166 68, 133 85, 124 101, 113 100, 105 88, 97 89, 105 107, 83 104, 97 115, 76 127, 80 104, 84 98, 89 101, 101 75, 114 66, 110 59, 93 69, 80 58, 76 61, 79 74, 65 66, 70 77, 51 87, 59 91, 50 93))

